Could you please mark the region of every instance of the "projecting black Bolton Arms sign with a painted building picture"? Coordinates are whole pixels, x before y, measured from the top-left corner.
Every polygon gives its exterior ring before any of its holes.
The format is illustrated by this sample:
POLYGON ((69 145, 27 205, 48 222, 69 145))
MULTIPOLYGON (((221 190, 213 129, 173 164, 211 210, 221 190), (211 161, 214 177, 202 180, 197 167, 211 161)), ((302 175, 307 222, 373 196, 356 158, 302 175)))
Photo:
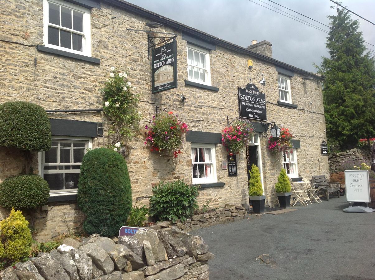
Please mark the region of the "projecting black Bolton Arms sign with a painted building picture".
POLYGON ((177 87, 176 41, 152 50, 152 93, 177 87))

